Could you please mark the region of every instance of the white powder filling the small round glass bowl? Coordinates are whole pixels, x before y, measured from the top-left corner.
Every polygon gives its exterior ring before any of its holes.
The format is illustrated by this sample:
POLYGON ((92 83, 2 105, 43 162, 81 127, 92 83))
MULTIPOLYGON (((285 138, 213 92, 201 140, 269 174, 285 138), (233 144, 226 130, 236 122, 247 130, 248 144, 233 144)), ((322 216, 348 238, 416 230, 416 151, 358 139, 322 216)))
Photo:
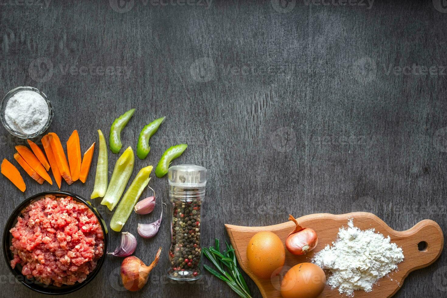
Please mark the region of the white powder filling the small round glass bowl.
POLYGON ((4 113, 8 126, 21 134, 38 132, 50 115, 45 99, 30 90, 14 94, 6 103, 4 113))

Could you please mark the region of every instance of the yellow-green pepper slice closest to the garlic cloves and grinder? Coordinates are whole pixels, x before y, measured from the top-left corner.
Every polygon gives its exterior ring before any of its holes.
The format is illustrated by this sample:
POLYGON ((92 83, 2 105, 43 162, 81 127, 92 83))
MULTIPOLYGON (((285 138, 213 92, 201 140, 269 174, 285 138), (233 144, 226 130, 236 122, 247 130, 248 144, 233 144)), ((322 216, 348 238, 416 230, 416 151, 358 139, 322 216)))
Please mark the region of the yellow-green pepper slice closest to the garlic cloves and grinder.
POLYGON ((122 226, 127 222, 141 193, 143 193, 144 188, 148 185, 149 180, 151 179, 149 177, 151 172, 152 166, 142 168, 138 172, 112 216, 112 220, 110 221, 110 228, 112 230, 116 232, 121 231, 122 226))

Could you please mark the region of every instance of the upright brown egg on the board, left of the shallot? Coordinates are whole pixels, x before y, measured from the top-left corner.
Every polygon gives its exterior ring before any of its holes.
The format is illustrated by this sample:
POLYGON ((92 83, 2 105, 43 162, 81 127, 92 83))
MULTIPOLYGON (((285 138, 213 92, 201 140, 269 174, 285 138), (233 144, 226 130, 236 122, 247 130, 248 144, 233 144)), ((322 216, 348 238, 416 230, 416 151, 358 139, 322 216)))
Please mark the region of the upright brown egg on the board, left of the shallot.
POLYGON ((257 277, 270 278, 276 269, 284 266, 286 251, 283 241, 272 232, 259 232, 250 239, 247 259, 249 268, 257 277))

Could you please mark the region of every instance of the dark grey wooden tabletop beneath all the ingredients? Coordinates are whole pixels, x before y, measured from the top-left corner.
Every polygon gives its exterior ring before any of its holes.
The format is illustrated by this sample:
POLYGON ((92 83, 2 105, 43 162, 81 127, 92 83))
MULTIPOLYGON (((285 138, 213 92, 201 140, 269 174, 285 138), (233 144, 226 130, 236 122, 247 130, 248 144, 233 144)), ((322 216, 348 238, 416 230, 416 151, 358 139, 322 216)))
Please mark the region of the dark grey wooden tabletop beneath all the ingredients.
MULTIPOLYGON (((270 225, 289 213, 370 211, 396 230, 431 218, 446 231, 442 1, 209 2, 0 0, 1 94, 21 85, 45 92, 55 110, 50 130, 66 141, 77 129, 83 152, 97 141, 97 129, 108 134, 128 109, 137 111, 122 133, 125 147, 135 148, 143 125, 167 116, 135 169, 188 143, 175 164, 209 170, 207 246, 228 239, 224 223, 270 225)), ((1 157, 13 161, 23 140, 3 127, 0 138, 1 157)), ((112 170, 118 155, 109 156, 112 170)), ((62 189, 89 197, 96 159, 85 185, 62 189)), ((2 178, 2 227, 26 197, 56 189, 22 175, 23 194, 2 178)), ((166 178, 154 175, 150 186, 168 202, 166 178)), ((99 202, 93 204, 109 222, 112 213, 99 202)), ((133 214, 124 230, 136 235, 137 222, 155 221, 160 206, 133 214)), ((236 297, 209 274, 192 284, 169 280, 169 233, 165 213, 154 239, 139 238, 135 255, 147 263, 164 249, 139 294, 122 290, 121 260, 108 257, 95 280, 69 297, 236 297)), ((110 240, 113 250, 119 235, 111 232, 110 240)), ((42 297, 6 266, 2 297, 42 297)), ((396 297, 446 291, 444 254, 411 273, 396 297)))

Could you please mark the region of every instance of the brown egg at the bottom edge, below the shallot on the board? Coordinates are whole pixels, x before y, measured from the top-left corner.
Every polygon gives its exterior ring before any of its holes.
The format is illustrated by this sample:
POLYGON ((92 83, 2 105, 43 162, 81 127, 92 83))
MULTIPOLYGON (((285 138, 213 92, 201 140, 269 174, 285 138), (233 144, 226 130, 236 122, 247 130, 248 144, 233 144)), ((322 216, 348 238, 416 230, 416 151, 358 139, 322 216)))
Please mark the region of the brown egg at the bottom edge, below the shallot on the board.
POLYGON ((323 269, 312 263, 293 266, 283 277, 283 298, 315 298, 323 292, 326 275, 323 269))

